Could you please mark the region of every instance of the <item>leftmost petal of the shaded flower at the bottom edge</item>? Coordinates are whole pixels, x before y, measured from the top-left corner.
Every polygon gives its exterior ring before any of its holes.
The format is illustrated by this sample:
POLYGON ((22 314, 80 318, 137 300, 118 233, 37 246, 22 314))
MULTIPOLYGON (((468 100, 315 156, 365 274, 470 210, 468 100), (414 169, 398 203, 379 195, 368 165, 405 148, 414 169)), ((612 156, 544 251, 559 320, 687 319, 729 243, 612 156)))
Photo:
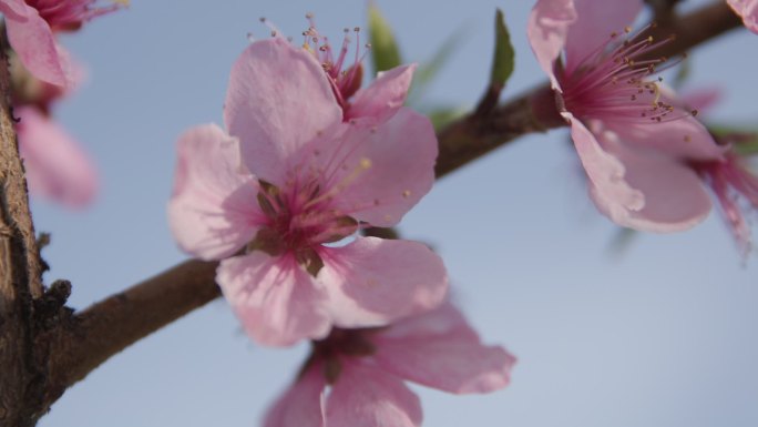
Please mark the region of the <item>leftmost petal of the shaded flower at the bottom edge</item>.
POLYGON ((326 380, 318 367, 311 367, 268 409, 264 427, 324 427, 321 398, 326 380))

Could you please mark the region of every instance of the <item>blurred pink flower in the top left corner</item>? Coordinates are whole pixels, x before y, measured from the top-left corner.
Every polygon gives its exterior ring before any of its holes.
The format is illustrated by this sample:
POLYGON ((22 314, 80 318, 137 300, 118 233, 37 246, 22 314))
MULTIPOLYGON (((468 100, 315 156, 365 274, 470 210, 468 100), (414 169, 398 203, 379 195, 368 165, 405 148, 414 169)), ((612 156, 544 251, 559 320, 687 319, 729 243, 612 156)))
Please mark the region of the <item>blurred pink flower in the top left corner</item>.
POLYGON ((66 53, 54 32, 79 29, 83 22, 111 12, 126 1, 95 7, 98 0, 0 0, 8 39, 23 65, 38 79, 65 87, 71 84, 66 53))

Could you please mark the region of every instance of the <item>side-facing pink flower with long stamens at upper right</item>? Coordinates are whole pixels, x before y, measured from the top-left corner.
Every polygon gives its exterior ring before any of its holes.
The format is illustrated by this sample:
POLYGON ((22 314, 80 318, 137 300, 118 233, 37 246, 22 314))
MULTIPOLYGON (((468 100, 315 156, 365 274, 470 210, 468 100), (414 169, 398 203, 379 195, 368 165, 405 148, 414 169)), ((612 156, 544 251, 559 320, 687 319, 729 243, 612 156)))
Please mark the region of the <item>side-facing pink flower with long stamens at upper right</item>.
POLYGON ((623 226, 673 232, 710 210, 688 162, 723 153, 690 111, 646 80, 664 60, 644 54, 659 43, 618 40, 641 8, 638 0, 539 0, 527 34, 600 211, 623 226))

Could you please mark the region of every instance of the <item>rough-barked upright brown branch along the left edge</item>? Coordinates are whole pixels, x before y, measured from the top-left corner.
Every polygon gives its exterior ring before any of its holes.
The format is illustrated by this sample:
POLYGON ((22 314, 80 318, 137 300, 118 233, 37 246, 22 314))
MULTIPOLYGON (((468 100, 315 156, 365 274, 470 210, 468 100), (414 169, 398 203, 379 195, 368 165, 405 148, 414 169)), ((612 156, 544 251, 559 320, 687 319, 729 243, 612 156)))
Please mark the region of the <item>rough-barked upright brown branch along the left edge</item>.
POLYGON ((33 426, 44 373, 35 364, 33 299, 40 260, 10 113, 8 59, 0 50, 0 425, 33 426))

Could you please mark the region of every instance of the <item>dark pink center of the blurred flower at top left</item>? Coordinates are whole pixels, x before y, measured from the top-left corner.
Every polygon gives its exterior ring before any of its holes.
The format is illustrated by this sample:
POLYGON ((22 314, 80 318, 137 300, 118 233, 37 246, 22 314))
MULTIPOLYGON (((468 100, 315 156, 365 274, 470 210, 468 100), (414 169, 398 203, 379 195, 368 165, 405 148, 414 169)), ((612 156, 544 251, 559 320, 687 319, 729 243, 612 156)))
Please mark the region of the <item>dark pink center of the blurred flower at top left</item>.
POLYGON ((53 31, 78 30, 82 23, 104 13, 112 12, 129 3, 127 0, 113 0, 109 6, 98 7, 98 0, 25 0, 37 9, 53 31))

